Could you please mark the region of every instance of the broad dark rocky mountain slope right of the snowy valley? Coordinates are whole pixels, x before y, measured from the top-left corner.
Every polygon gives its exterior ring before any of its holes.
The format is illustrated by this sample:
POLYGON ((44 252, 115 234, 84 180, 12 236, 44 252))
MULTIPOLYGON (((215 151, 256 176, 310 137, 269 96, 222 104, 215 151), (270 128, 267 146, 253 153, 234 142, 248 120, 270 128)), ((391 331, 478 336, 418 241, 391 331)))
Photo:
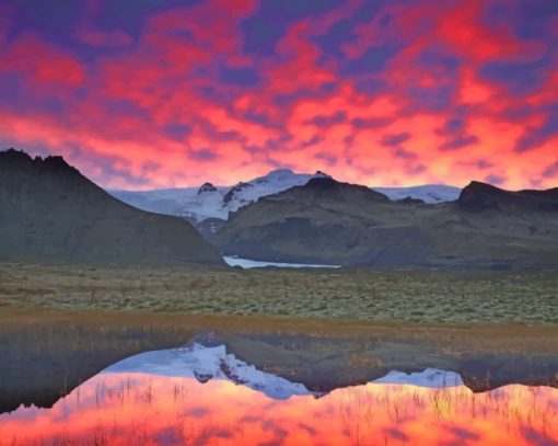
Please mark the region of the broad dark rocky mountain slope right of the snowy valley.
POLYGON ((241 208, 210 237, 224 254, 276 262, 556 266, 557 205, 556 190, 473 182, 456 202, 428 205, 314 179, 241 208))

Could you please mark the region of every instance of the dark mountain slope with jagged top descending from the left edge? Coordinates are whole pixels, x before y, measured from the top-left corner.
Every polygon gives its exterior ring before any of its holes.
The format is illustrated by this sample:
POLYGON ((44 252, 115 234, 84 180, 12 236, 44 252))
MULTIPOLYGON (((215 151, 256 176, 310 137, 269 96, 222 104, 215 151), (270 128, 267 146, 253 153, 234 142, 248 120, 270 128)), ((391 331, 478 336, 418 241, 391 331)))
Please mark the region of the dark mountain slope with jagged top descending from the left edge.
POLYGON ((223 264, 182 218, 136 209, 61 157, 0 152, 0 260, 223 264))

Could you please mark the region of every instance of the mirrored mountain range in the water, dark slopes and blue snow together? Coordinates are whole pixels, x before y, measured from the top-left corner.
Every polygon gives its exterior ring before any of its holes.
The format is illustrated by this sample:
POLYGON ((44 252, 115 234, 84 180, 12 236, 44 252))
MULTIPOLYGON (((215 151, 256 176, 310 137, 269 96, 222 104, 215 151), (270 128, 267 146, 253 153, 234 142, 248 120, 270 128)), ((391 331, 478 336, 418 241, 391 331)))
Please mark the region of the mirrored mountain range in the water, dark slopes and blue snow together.
MULTIPOLYGON (((194 335, 187 329, 165 332, 148 325, 130 331, 84 327, 74 331, 49 327, 45 330, 43 333, 37 328, 33 335, 20 333, 15 339, 0 334, 0 413, 22 403, 51 407, 111 364, 113 370, 124 366, 140 369, 149 364, 146 371, 160 375, 161 370, 174 373, 173 367, 189 367, 189 376, 200 382, 216 378, 236 384, 249 381, 254 389, 274 398, 321 396, 380 378, 407 382, 409 378, 404 374, 426 369, 453 370, 474 392, 509 384, 558 387, 556 348, 531 342, 519 350, 512 345, 520 342, 514 333, 507 334, 509 346, 483 350, 477 343, 462 343, 467 333, 454 331, 429 339, 412 330, 385 330, 358 338, 233 332, 194 335), (69 332, 72 342, 68 342, 69 332), (191 338, 188 348, 196 344, 206 347, 211 362, 202 362, 191 352, 189 363, 185 362, 187 348, 168 350, 166 357, 155 352, 130 358, 141 352, 179 345, 185 338, 191 338), (125 357, 128 359, 124 365, 117 364, 125 357), (395 376, 393 370, 400 370, 400 375, 395 376)), ((453 378, 445 379, 453 382, 453 378)))

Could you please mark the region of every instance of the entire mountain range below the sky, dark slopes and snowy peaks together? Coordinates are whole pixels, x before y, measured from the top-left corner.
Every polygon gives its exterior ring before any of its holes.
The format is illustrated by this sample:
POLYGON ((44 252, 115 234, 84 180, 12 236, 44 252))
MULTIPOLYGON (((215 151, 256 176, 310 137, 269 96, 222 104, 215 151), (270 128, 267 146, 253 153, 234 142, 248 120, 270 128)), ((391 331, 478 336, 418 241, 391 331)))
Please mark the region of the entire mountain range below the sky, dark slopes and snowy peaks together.
POLYGON ((0 152, 0 260, 558 265, 558 188, 374 190, 276 170, 232 187, 112 194, 60 157, 0 152))

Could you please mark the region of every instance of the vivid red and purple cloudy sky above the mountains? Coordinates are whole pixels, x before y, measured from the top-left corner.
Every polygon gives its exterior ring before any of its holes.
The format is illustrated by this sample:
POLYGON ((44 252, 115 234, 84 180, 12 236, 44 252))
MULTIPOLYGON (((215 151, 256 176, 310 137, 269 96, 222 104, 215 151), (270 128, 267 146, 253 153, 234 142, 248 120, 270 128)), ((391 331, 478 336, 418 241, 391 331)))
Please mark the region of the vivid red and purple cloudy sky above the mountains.
POLYGON ((558 186, 556 0, 0 0, 0 148, 105 187, 558 186))

